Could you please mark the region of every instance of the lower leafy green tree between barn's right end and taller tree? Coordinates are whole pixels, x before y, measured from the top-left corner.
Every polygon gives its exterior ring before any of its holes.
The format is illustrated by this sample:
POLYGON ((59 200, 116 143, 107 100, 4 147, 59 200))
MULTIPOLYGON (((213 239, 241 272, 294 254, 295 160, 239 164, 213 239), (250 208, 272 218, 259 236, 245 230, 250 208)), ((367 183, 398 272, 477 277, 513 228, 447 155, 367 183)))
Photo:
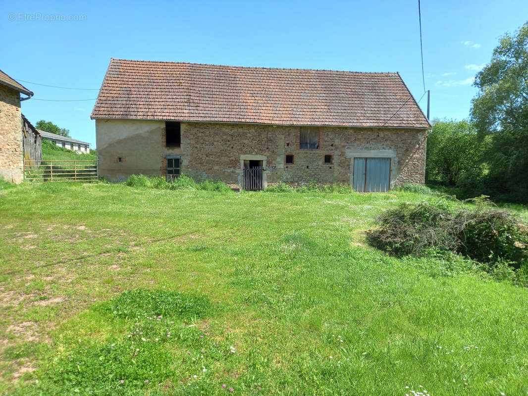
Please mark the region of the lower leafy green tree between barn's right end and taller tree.
POLYGON ((476 177, 482 173, 481 161, 477 131, 471 122, 432 121, 432 130, 427 137, 428 181, 453 186, 462 175, 472 174, 476 177))

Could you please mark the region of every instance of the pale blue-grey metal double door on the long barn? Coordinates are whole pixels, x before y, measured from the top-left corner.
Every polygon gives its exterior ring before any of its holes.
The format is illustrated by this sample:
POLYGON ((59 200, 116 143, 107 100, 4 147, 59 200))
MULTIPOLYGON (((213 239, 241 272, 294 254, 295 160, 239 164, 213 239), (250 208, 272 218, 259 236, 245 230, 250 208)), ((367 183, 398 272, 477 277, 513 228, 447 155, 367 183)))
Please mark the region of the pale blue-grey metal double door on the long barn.
POLYGON ((365 193, 389 191, 390 158, 354 158, 354 190, 365 193))

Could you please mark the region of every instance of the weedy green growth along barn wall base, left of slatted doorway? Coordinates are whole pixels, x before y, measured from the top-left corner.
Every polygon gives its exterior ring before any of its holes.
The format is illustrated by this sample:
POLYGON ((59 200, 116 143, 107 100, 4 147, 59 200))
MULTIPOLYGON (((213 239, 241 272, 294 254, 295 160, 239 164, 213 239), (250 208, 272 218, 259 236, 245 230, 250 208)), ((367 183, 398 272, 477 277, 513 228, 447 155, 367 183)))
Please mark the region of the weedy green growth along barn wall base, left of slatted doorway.
POLYGON ((175 178, 174 182, 169 183, 164 176, 154 175, 130 175, 124 182, 129 187, 148 187, 158 190, 203 190, 231 192, 231 188, 224 182, 213 182, 206 180, 202 183, 196 183, 192 177, 180 175, 175 178))

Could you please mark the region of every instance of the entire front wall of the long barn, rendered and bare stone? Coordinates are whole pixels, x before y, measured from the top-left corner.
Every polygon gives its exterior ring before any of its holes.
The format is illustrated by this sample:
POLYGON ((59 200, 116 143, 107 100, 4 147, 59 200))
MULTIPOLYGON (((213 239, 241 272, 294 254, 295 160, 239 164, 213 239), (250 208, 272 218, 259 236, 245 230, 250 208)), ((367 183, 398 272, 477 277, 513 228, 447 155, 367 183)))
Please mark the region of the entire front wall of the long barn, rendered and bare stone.
POLYGON ((182 172, 196 180, 241 182, 243 161, 264 158, 268 184, 352 184, 354 157, 390 157, 391 186, 425 182, 426 131, 319 127, 319 148, 299 149, 299 127, 182 122, 181 147, 164 147, 163 121, 96 120, 100 175, 112 181, 133 173, 163 174, 165 154, 179 154, 182 172), (294 164, 286 164, 294 155, 294 164), (324 163, 331 155, 332 162, 324 163), (262 157, 257 157, 262 156, 262 157), (115 158, 126 157, 126 163, 115 158))

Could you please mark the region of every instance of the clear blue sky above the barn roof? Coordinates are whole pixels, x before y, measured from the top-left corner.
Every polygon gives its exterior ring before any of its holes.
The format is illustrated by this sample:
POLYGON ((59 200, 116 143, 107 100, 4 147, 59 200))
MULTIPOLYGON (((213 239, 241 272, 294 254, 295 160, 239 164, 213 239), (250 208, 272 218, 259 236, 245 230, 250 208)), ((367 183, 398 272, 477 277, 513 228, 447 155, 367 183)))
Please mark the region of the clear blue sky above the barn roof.
MULTIPOLYGON (((498 37, 528 19, 528 1, 423 0, 431 118, 468 117, 472 78, 498 37)), ((110 58, 256 67, 399 71, 423 93, 417 1, 11 2, 1 6, 0 69, 35 92, 33 123, 53 121, 95 147, 90 113, 110 58), (44 4, 45 3, 45 4, 44 4), (68 21, 68 18, 79 21, 68 21), (80 16, 80 17, 78 17, 80 16), (11 21, 10 19, 13 19, 11 21), (53 18, 55 20, 53 21, 53 18), (58 19, 65 18, 65 21, 58 19)), ((420 105, 425 110, 426 97, 420 105)))

